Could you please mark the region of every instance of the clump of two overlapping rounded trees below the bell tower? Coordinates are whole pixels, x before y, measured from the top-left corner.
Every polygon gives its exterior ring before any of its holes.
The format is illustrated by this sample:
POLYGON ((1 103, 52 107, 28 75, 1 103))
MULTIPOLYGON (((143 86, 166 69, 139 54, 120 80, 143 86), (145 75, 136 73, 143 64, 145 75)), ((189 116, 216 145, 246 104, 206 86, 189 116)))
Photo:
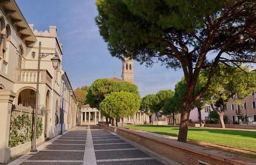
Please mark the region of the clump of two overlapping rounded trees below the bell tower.
POLYGON ((87 90, 86 102, 90 107, 100 110, 106 117, 106 122, 113 123, 124 118, 133 116, 140 108, 141 98, 138 87, 124 81, 113 81, 111 79, 97 79, 87 90))

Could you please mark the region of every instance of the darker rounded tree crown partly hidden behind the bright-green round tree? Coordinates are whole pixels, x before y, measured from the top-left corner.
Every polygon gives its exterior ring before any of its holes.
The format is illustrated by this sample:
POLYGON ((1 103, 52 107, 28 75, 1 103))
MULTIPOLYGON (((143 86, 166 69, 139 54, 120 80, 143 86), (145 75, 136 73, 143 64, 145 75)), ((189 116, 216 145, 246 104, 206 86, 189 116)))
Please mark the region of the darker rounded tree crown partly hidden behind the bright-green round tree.
POLYGON ((138 94, 138 87, 128 82, 116 82, 111 79, 97 79, 88 88, 86 100, 90 107, 99 109, 100 103, 111 92, 127 91, 138 94))

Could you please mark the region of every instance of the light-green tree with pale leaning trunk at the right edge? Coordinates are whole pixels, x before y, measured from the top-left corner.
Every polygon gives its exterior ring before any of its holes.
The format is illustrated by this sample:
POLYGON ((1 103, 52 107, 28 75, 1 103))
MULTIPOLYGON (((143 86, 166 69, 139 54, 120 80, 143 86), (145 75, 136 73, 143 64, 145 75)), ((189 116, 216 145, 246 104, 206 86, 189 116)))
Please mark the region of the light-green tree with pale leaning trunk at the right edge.
POLYGON ((207 102, 218 113, 221 127, 225 128, 226 103, 234 97, 234 104, 244 105, 244 98, 256 90, 256 72, 250 72, 248 68, 242 66, 236 68, 220 65, 216 75, 218 76, 214 77, 214 83, 207 90, 211 95, 207 102))

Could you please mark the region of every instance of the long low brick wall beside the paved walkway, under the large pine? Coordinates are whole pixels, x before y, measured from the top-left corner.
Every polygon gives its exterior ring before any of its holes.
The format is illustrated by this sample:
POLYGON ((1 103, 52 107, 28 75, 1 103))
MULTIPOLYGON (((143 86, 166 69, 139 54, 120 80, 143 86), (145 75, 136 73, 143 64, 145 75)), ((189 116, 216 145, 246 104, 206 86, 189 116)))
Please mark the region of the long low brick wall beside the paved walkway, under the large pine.
POLYGON ((118 128, 99 124, 106 130, 116 132, 124 138, 130 139, 140 145, 146 146, 155 152, 169 157, 180 164, 256 164, 256 160, 239 157, 231 153, 221 152, 202 146, 180 143, 170 139, 144 134, 132 129, 118 128))

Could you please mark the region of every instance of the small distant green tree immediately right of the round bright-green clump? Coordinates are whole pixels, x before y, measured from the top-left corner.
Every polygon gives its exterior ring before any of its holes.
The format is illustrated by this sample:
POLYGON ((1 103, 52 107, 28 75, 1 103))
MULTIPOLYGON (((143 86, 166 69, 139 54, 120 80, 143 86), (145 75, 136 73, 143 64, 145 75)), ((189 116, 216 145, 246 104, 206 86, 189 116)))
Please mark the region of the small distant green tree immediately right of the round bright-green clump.
POLYGON ((152 123, 151 118, 152 118, 153 111, 152 109, 150 109, 150 107, 152 107, 154 99, 156 99, 156 95, 154 94, 146 95, 141 99, 140 109, 141 111, 144 111, 144 113, 149 116, 149 123, 152 123))

